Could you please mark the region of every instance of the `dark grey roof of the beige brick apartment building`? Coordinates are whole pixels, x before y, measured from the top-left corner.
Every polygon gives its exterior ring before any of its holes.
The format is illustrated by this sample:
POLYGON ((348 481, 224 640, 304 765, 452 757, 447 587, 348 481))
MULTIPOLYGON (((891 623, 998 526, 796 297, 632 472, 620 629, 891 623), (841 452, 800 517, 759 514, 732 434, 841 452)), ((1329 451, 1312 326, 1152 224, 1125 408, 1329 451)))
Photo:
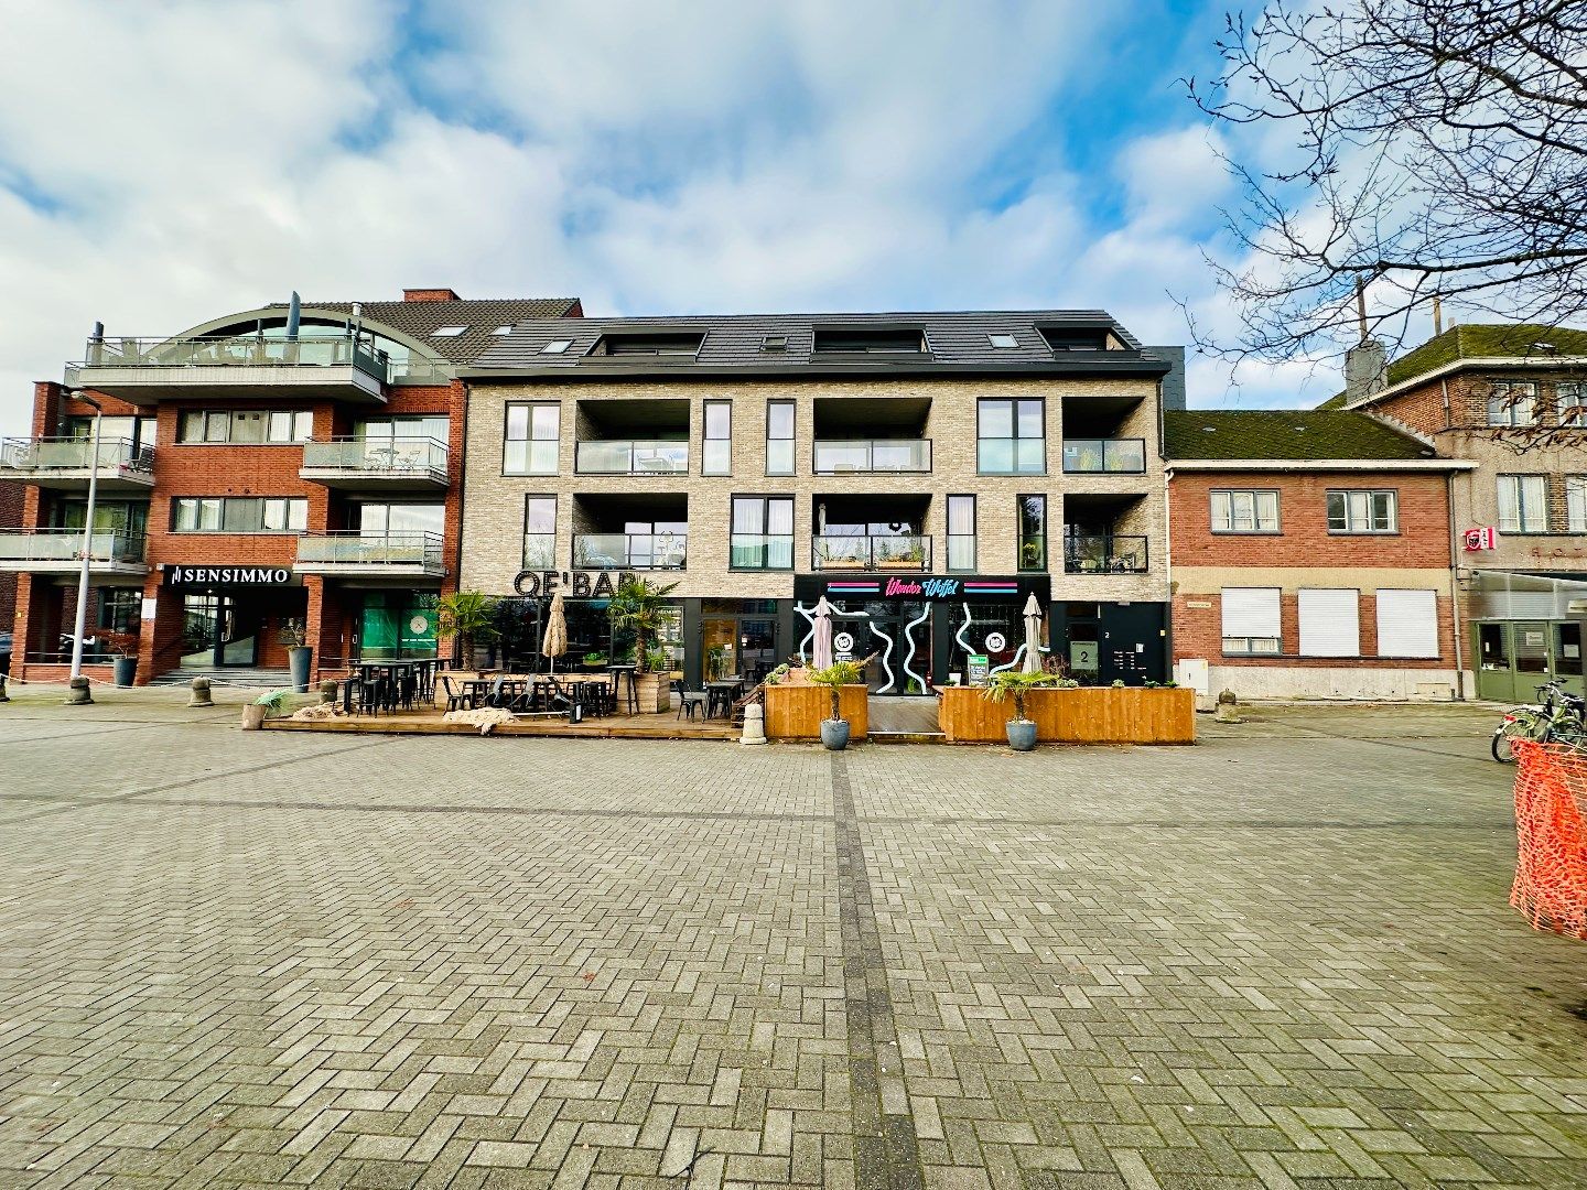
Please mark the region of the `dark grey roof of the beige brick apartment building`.
POLYGON ((635 374, 755 374, 838 373, 874 374, 949 371, 1011 371, 1066 374, 1162 376, 1170 362, 1141 347, 1108 313, 1100 309, 954 311, 890 314, 690 314, 684 317, 538 319, 522 322, 497 340, 470 374, 533 376, 635 376, 635 374), (816 355, 814 332, 820 327, 919 327, 928 354, 841 357, 816 355), (1125 349, 1054 352, 1043 327, 1111 332, 1125 349), (601 335, 622 332, 705 332, 697 355, 609 359, 590 355, 601 335), (1014 347, 993 347, 990 335, 1013 335, 1014 347), (786 340, 786 349, 767 351, 768 336, 786 340), (570 340, 560 354, 546 354, 548 343, 570 340))

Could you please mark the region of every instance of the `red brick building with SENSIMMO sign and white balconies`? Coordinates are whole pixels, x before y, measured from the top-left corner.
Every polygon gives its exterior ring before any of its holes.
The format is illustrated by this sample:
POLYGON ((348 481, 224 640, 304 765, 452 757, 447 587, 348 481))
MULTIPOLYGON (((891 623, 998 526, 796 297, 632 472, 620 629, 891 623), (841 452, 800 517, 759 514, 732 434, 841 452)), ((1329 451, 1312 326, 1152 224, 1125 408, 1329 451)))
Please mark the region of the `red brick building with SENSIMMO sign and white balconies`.
POLYGON ((298 635, 316 674, 433 654, 435 598, 457 582, 457 371, 522 319, 581 314, 409 289, 95 335, 63 386, 37 386, 32 436, 0 451, 0 487, 24 493, 21 528, 0 530, 13 673, 67 674, 90 470, 90 674, 108 678, 105 631, 136 635, 138 682, 281 679, 298 635))

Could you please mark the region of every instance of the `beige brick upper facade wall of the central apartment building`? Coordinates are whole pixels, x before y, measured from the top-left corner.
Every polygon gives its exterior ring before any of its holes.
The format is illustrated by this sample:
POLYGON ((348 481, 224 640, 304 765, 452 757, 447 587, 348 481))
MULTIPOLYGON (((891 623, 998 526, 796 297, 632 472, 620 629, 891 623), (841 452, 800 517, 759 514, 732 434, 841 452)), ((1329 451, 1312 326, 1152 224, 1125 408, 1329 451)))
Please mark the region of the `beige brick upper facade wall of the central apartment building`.
MULTIPOLYGON (((635 430, 635 438, 647 436, 635 430)), ((790 571, 754 573, 728 570, 730 498, 733 495, 794 495, 794 563, 797 573, 809 571, 814 497, 930 495, 924 532, 932 536, 932 571, 946 573, 946 497, 976 495, 979 535, 976 568, 987 574, 1016 571, 1019 495, 1047 497, 1049 568, 1055 600, 1166 600, 1163 543, 1163 470, 1157 452, 1157 386, 1154 381, 1116 379, 1014 379, 1014 381, 733 381, 733 382, 655 382, 570 384, 570 382, 486 382, 473 386, 468 398, 468 459, 463 478, 463 535, 460 584, 490 593, 513 587, 522 557, 524 497, 557 497, 559 568, 570 568, 574 532, 573 497, 578 493, 686 493, 689 498, 689 565, 682 573, 665 573, 660 581, 678 582, 678 597, 792 598, 790 571), (1062 471, 1063 400, 1086 397, 1138 397, 1139 405, 1119 428, 1119 436, 1144 438, 1144 476, 1065 476, 1062 471), (579 476, 574 474, 574 427, 579 405, 643 397, 684 398, 690 408, 687 476, 579 476), (930 398, 925 436, 932 440, 928 474, 841 474, 811 473, 814 403, 824 397, 849 398, 930 398), (1041 398, 1046 406, 1047 473, 1043 476, 976 474, 976 400, 981 397, 1041 398), (767 476, 767 401, 795 400, 795 474, 767 476), (560 466, 555 476, 503 476, 501 438, 505 406, 509 401, 557 401, 560 416, 560 466), (700 474, 703 401, 733 403, 733 473, 700 474), (1130 532, 1151 538, 1147 574, 1062 573, 1062 532, 1065 493, 1119 493, 1138 497, 1130 509, 1130 532)), ((1120 532, 1124 532, 1120 528, 1120 532)))

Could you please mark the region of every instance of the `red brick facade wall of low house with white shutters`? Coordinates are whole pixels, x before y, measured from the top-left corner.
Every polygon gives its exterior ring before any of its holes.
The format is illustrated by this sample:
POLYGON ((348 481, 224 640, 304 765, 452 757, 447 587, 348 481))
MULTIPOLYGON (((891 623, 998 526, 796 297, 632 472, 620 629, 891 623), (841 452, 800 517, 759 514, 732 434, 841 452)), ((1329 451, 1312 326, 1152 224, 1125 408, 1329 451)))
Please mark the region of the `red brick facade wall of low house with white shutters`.
MULTIPOLYGON (((1335 473, 1176 473, 1170 484, 1170 530, 1173 543, 1173 643, 1174 658, 1205 657, 1214 665, 1352 666, 1352 668, 1449 668, 1454 665, 1454 616, 1449 601, 1449 501, 1441 473, 1335 471, 1335 473), (1279 533, 1212 533, 1211 492, 1214 489, 1270 489, 1279 492, 1279 533), (1333 489, 1393 489, 1398 492, 1400 532, 1393 535, 1328 533, 1327 493, 1333 489), (1182 578, 1182 568, 1203 566, 1228 571, 1216 584, 1182 578), (1300 614, 1295 590, 1279 600, 1282 654, 1239 657, 1222 652, 1222 597, 1228 587, 1292 587, 1290 576, 1274 568, 1339 571, 1352 568, 1392 568, 1422 571, 1424 590, 1438 592, 1438 658, 1381 658, 1378 652, 1378 598, 1371 576, 1358 584, 1360 658, 1297 657, 1300 614), (1197 590, 1211 585, 1212 590, 1197 590), (1190 606, 1205 605, 1205 606, 1190 606)), ((1306 585, 1306 584, 1300 584, 1306 585)), ((1338 574, 1319 585, 1349 587, 1338 574)))

